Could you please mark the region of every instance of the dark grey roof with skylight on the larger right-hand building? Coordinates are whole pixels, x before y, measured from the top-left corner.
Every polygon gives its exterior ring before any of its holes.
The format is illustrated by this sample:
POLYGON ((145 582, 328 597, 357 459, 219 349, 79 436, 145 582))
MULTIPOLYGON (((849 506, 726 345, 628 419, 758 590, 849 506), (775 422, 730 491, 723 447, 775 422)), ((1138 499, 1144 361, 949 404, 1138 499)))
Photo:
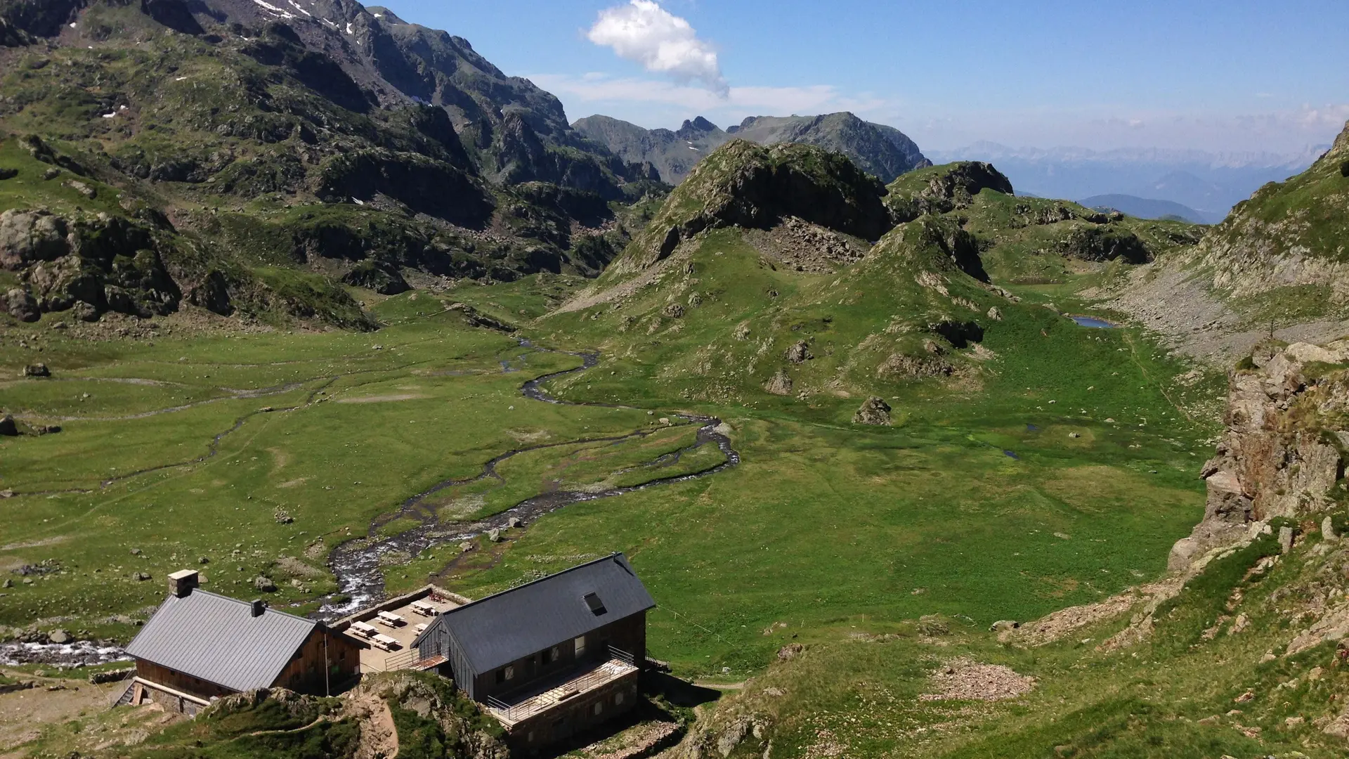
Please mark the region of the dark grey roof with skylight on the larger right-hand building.
POLYGON ((623 554, 611 554, 451 609, 413 646, 444 625, 480 674, 653 606, 623 554), (591 593, 598 612, 585 600, 591 593))

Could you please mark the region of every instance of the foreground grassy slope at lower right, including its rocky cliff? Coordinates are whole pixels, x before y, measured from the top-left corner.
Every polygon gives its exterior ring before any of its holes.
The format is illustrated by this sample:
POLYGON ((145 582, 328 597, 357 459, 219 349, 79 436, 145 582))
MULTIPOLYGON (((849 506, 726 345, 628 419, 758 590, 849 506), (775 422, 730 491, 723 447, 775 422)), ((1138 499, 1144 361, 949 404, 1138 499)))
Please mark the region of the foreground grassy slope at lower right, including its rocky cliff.
POLYGON ((673 755, 1344 756, 1346 382, 1344 343, 1265 344, 1233 373, 1206 539, 1168 577, 987 632, 932 614, 781 636, 673 755))

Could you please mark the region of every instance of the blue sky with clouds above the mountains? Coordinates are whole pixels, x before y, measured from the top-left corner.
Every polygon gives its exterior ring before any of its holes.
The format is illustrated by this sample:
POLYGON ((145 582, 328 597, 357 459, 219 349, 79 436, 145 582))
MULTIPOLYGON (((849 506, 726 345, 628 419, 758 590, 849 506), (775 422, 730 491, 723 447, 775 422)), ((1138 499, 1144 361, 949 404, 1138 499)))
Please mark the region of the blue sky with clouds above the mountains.
POLYGON ((849 109, 923 147, 1298 151, 1349 119, 1349 3, 386 0, 568 117, 849 109))

